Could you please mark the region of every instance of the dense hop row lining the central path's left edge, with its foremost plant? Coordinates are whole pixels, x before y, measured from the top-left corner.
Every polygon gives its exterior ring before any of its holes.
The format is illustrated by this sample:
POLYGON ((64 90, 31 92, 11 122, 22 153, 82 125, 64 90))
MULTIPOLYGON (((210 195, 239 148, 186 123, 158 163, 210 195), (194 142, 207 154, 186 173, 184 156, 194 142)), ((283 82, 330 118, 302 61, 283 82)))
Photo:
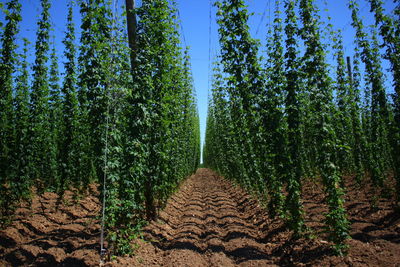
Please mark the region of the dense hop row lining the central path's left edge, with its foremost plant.
POLYGON ((180 48, 175 3, 143 1, 135 13, 136 67, 130 70, 120 61, 131 51, 117 48, 126 42, 117 35, 112 64, 120 77, 108 74, 115 95, 107 112, 106 229, 116 254, 132 252, 129 240, 138 227, 155 218, 179 182, 197 169, 200 157, 190 59, 180 48))

